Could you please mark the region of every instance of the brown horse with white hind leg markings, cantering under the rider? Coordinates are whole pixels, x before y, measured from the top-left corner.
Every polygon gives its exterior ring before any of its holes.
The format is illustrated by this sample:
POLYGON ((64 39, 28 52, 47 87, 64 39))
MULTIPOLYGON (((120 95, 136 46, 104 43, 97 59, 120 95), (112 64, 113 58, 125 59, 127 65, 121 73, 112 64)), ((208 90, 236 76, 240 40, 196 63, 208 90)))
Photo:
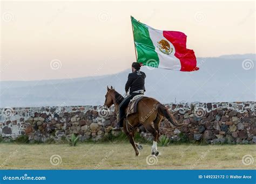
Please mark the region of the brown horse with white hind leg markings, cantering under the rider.
MULTIPOLYGON (((120 95, 116 90, 114 90, 114 88, 111 86, 111 88, 107 87, 107 93, 105 95, 105 98, 106 99, 104 105, 107 106, 107 108, 110 108, 111 105, 114 104, 115 111, 117 114, 118 106, 124 100, 124 97, 120 95)), ((154 154, 156 156, 159 154, 157 150, 157 140, 160 136, 159 124, 163 117, 166 117, 168 121, 174 126, 180 126, 176 123, 172 114, 167 110, 167 108, 163 104, 161 104, 154 98, 145 97, 139 101, 137 112, 129 115, 126 118, 127 121, 124 120, 123 130, 129 137, 130 143, 134 148, 136 156, 139 155, 138 148, 139 150, 142 149, 142 146, 137 143, 134 143, 133 139, 139 125, 144 125, 145 129, 152 133, 154 137, 151 154, 154 154)))

